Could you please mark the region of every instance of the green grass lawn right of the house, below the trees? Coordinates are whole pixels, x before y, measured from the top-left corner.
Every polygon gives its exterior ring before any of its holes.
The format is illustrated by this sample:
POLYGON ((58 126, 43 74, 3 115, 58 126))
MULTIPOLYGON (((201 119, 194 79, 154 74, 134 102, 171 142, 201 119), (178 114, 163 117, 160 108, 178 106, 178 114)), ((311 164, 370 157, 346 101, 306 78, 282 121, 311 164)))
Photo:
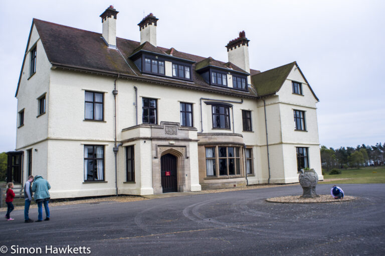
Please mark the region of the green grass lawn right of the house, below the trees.
POLYGON ((325 173, 324 179, 346 179, 338 181, 327 181, 322 184, 351 184, 351 183, 385 183, 385 167, 365 167, 361 169, 340 169, 342 174, 329 175, 325 173))

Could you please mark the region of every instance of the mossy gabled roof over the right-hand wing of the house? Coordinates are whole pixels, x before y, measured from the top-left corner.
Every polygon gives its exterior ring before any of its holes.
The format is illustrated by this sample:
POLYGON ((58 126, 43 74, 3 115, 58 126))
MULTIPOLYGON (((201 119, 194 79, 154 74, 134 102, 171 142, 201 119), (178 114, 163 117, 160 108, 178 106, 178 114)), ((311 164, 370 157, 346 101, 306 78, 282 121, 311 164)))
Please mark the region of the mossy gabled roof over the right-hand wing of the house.
POLYGON ((253 75, 251 80, 254 88, 257 91, 257 95, 262 97, 277 93, 281 89, 294 65, 298 68, 303 79, 308 84, 313 96, 319 101, 296 61, 253 75))

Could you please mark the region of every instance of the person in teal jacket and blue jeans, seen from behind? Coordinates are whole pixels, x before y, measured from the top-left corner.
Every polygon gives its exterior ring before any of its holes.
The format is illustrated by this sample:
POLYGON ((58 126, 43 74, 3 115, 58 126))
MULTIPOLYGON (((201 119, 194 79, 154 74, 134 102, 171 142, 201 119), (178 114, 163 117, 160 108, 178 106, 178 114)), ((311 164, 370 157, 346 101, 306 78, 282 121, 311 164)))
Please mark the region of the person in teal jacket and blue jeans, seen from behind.
POLYGON ((48 203, 50 201, 50 193, 48 190, 51 189, 50 183, 43 179, 42 176, 35 176, 34 185, 32 185, 32 191, 35 192, 35 202, 38 204, 38 220, 40 222, 43 220, 43 204, 44 209, 46 210, 46 218, 44 220, 50 220, 50 208, 48 203))

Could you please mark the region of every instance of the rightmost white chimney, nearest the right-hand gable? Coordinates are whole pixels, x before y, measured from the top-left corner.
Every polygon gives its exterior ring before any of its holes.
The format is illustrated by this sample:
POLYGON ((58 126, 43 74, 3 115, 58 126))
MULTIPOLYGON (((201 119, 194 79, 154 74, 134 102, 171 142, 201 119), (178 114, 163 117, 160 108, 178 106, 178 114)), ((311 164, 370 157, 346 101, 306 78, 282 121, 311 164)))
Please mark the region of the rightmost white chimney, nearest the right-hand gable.
MULTIPOLYGON (((245 31, 239 32, 239 37, 230 41, 226 48, 229 56, 229 62, 250 73, 249 63, 249 42, 245 31)), ((249 82, 250 84, 250 82, 249 82)))

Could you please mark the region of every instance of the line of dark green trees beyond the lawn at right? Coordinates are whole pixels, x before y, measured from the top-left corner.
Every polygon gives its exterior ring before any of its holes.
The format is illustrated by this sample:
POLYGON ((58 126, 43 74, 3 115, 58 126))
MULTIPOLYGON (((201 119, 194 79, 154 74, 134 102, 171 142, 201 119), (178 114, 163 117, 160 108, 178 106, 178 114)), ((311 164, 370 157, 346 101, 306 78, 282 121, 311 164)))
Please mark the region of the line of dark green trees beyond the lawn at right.
POLYGON ((375 146, 365 144, 353 147, 340 147, 339 149, 321 146, 322 168, 328 172, 332 168, 347 169, 364 166, 385 165, 385 143, 375 146))

